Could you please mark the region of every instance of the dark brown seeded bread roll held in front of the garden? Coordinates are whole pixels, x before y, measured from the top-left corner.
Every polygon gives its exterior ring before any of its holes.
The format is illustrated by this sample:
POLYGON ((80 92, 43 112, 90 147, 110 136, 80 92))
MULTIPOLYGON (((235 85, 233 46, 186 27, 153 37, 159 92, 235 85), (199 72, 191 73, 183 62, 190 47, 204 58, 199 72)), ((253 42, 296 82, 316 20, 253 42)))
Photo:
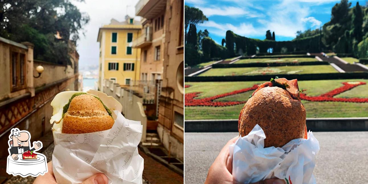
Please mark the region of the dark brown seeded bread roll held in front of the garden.
POLYGON ((239 133, 248 135, 256 124, 265 132, 265 147, 282 147, 305 138, 306 114, 300 100, 280 87, 260 88, 247 101, 239 117, 239 133))

